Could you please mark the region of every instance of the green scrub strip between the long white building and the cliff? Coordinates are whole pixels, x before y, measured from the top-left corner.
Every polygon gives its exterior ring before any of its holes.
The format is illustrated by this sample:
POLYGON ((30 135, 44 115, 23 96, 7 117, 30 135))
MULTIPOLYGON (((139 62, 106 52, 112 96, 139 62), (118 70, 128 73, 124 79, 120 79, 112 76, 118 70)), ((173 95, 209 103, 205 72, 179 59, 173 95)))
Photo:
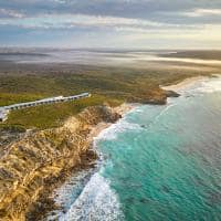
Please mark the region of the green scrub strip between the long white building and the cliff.
MULTIPOLYGON (((107 103, 110 106, 117 106, 122 103, 120 99, 108 98, 104 96, 92 96, 75 102, 42 105, 29 107, 24 109, 13 110, 9 114, 9 119, 1 127, 7 128, 51 128, 61 126, 67 117, 80 113, 87 106, 95 106, 107 103)), ((11 129, 10 129, 11 130, 11 129)))

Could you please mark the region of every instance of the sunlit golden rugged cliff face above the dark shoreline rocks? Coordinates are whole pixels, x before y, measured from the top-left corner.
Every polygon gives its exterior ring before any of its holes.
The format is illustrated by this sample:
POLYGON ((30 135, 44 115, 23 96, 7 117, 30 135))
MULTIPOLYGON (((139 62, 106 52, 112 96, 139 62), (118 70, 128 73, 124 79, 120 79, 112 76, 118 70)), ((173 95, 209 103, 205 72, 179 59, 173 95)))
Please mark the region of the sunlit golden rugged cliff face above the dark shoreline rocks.
POLYGON ((1 147, 0 220, 27 220, 48 180, 80 165, 87 151, 94 157, 90 151, 93 126, 118 118, 108 107, 90 107, 61 128, 35 131, 1 147))

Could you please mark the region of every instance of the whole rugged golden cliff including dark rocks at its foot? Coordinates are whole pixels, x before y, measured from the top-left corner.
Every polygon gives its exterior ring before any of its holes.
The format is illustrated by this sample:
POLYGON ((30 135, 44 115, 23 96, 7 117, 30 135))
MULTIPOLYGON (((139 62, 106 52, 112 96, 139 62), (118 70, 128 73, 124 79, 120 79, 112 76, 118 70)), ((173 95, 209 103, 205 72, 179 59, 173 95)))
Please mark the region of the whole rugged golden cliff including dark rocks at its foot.
POLYGON ((62 127, 33 131, 7 145, 1 159, 4 168, 1 178, 6 177, 6 185, 0 186, 3 193, 0 219, 41 220, 56 209, 51 196, 53 190, 74 171, 95 166, 97 155, 92 149, 93 137, 120 117, 107 106, 87 107, 64 122, 62 127), (10 160, 12 157, 15 165, 10 160), (24 162, 29 167, 22 167, 24 162), (15 168, 21 168, 20 177, 15 168))

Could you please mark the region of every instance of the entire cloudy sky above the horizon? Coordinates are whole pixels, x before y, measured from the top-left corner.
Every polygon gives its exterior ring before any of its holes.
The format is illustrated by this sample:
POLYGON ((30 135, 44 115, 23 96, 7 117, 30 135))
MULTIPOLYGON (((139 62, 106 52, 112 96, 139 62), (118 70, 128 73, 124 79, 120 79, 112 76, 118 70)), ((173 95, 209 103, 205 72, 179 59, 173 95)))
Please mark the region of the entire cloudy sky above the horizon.
POLYGON ((0 0, 0 46, 221 49, 221 0, 0 0))

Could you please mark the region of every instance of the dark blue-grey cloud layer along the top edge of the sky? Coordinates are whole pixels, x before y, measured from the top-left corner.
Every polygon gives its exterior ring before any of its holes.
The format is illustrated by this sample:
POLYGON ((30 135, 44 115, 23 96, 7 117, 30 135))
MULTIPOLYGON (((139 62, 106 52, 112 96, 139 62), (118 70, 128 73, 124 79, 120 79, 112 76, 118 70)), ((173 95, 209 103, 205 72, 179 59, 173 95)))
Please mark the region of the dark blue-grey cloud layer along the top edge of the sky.
MULTIPOLYGON (((82 13, 123 18, 155 18, 160 12, 221 9, 219 0, 7 0, 0 8, 24 10, 28 15, 45 13, 82 13)), ((156 19, 156 18, 155 18, 156 19)))

